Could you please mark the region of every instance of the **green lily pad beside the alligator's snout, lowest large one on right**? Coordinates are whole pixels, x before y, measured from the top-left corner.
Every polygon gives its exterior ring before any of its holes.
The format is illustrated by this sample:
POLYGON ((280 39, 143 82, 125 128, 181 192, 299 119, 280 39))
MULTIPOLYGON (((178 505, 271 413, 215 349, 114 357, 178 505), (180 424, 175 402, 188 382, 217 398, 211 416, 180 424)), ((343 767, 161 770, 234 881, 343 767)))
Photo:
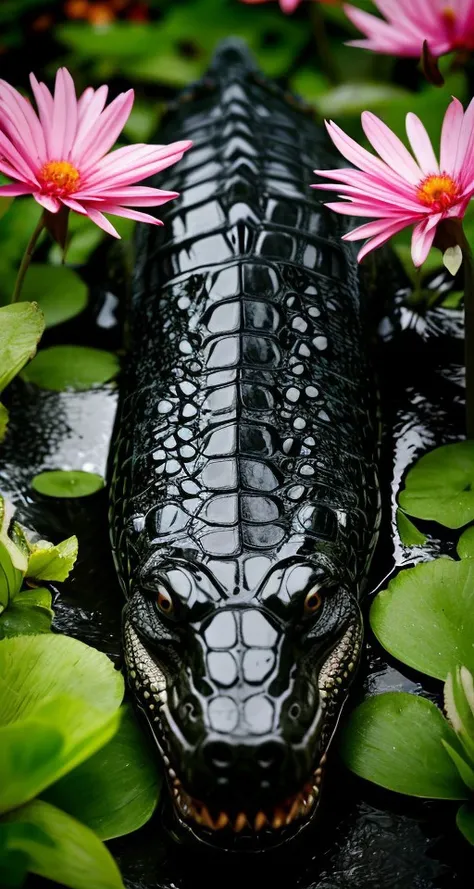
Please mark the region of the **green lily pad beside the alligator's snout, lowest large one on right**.
POLYGON ((349 716, 340 741, 345 764, 387 790, 428 799, 470 793, 442 741, 457 746, 441 711, 424 698, 388 692, 368 698, 349 716))

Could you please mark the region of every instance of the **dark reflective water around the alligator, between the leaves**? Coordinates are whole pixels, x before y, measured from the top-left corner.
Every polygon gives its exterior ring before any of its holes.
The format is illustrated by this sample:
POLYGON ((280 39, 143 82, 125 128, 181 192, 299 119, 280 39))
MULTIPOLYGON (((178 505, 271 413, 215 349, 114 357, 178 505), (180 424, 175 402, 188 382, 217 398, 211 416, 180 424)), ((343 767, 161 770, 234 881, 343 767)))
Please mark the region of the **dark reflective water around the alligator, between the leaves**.
MULTIPOLYGON (((433 282, 437 287, 441 279, 433 282)), ((124 288, 119 279, 95 287, 91 308, 80 319, 49 332, 47 340, 120 347, 116 313, 124 288)), ((406 547, 396 526, 396 494, 407 466, 437 444, 463 432, 462 319, 453 310, 424 316, 397 297, 383 321, 377 347, 383 408, 384 522, 370 588, 393 570, 440 552, 452 553, 452 537, 430 546, 406 547)), ((104 474, 117 389, 48 393, 17 382, 12 387, 10 434, 0 449, 0 490, 19 516, 42 536, 79 537, 73 576, 55 601, 55 626, 120 662, 121 594, 111 562, 105 492, 76 501, 32 495, 31 477, 47 468, 104 474)), ((368 631, 366 655, 352 702, 367 694, 404 689, 439 700, 439 683, 390 660, 368 631)), ((249 856, 205 856, 171 842, 161 812, 138 833, 111 843, 130 889, 198 889, 202 885, 285 889, 467 889, 473 885, 474 853, 458 835, 456 804, 412 801, 381 791, 349 774, 336 750, 328 769, 322 817, 304 842, 287 850, 249 856)), ((38 885, 36 882, 35 885, 38 885)), ((42 883, 42 885, 44 885, 42 883)), ((91 875, 91 889, 94 889, 91 875)))

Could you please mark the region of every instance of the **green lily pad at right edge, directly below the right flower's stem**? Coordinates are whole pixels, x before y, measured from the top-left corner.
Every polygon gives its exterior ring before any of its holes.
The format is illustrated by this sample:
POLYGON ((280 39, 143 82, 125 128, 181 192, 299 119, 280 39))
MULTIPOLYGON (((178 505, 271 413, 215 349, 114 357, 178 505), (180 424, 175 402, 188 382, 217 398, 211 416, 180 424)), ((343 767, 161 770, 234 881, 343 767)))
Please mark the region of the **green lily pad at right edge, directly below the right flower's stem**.
POLYGON ((410 469, 400 506, 418 519, 462 528, 474 519, 474 442, 459 441, 425 454, 410 469))

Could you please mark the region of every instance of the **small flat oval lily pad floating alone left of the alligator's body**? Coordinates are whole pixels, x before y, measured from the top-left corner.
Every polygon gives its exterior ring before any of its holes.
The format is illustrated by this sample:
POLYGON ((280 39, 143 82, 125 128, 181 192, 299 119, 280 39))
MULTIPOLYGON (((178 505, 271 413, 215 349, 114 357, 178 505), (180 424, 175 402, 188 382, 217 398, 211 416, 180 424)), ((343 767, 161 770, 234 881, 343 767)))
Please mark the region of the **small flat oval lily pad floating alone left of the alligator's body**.
POLYGON ((40 389, 92 389, 117 376, 119 361, 112 352, 86 346, 50 346, 42 349, 22 372, 22 378, 40 389))

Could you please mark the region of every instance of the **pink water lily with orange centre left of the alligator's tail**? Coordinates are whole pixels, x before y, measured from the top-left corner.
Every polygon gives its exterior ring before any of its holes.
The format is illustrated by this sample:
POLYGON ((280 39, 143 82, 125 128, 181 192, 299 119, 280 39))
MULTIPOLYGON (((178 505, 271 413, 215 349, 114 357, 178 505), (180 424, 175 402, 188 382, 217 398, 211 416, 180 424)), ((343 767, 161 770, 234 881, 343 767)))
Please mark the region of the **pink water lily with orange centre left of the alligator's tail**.
POLYGON ((13 180, 0 187, 0 196, 31 194, 49 213, 67 207, 116 238, 120 235, 104 213, 162 225, 130 208, 158 207, 177 193, 133 183, 180 160, 192 143, 128 145, 108 153, 132 110, 133 90, 105 107, 108 88, 88 87, 77 99, 66 68, 57 72, 54 96, 34 74, 30 80, 38 114, 0 81, 0 171, 13 180))

